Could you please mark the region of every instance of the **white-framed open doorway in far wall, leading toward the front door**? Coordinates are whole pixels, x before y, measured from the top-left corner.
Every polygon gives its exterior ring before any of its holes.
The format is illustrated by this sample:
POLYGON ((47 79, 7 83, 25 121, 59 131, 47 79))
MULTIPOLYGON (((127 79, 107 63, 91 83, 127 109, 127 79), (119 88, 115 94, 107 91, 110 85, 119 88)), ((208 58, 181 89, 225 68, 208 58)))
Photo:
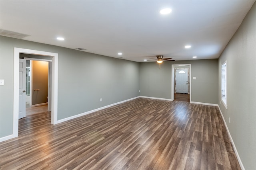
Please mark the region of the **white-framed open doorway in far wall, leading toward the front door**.
POLYGON ((172 64, 172 100, 191 102, 191 64, 172 64))

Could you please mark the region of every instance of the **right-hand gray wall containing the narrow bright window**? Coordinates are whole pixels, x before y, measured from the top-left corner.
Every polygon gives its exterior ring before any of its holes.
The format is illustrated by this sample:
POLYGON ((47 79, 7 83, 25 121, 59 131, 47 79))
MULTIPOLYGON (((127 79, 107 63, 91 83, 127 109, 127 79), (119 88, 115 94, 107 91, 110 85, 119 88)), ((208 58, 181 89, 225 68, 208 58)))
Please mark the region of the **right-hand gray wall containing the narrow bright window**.
POLYGON ((256 3, 219 58, 227 61, 227 105, 220 109, 246 170, 256 168, 256 3), (230 123, 229 123, 230 117, 230 123))

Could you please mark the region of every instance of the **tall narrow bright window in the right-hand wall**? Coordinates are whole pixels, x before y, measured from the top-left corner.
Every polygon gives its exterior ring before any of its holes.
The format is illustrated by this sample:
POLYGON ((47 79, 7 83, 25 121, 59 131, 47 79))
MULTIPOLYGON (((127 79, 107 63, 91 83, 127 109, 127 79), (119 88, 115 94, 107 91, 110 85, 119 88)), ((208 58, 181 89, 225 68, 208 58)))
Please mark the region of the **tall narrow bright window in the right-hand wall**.
POLYGON ((227 61, 221 66, 221 101, 227 109, 227 61))

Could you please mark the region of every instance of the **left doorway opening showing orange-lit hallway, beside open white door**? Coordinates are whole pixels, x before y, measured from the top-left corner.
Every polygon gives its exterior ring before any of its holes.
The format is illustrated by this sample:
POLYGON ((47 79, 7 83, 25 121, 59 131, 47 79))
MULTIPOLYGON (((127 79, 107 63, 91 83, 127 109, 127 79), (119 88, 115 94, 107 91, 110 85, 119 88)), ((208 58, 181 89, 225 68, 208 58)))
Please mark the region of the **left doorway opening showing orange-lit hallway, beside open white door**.
POLYGON ((51 111, 51 58, 46 60, 40 59, 38 55, 20 53, 21 59, 26 60, 26 113, 23 116, 19 115, 19 118, 51 111))

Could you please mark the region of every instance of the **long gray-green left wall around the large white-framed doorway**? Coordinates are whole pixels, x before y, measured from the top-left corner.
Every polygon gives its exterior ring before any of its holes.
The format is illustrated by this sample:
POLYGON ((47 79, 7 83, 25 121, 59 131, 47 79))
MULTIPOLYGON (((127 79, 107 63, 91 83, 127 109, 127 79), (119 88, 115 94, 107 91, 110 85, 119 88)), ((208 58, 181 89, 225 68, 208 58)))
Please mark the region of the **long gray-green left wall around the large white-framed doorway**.
POLYGON ((1 36, 0 137, 12 135, 14 47, 58 53, 58 120, 139 96, 139 63, 1 36))

